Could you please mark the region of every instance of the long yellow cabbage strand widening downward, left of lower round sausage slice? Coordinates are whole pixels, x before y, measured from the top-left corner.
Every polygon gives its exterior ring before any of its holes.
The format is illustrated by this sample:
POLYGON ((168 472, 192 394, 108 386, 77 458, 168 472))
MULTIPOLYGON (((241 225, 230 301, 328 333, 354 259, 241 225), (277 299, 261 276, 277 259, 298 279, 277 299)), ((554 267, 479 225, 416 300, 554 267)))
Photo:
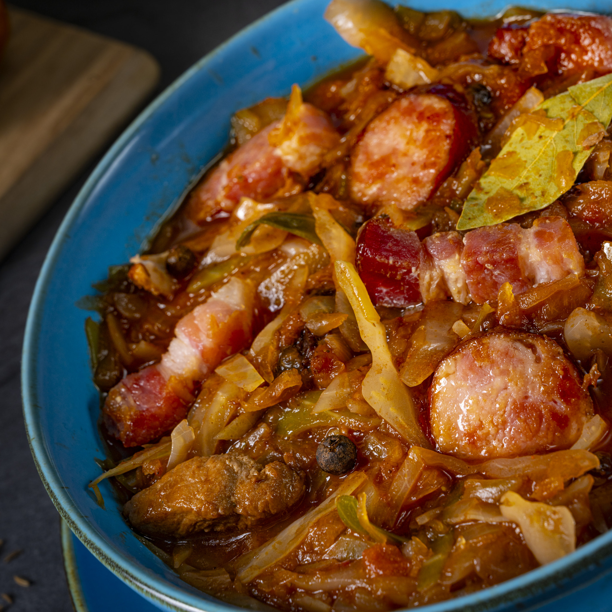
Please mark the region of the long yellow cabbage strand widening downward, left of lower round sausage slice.
POLYGON ((335 263, 338 284, 346 294, 359 324, 359 332, 372 352, 372 367, 362 383, 365 401, 411 445, 431 445, 418 422, 416 407, 408 387, 395 369, 387 336, 355 266, 346 261, 335 263))

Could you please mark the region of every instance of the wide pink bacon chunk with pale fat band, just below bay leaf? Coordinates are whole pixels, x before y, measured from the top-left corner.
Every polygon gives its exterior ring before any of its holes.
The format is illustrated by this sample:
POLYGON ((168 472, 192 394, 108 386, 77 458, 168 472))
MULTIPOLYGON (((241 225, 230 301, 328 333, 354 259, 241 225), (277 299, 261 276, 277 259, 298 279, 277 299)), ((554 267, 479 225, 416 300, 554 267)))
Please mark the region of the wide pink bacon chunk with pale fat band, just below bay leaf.
POLYGON ((540 217, 528 230, 518 223, 478 228, 464 243, 461 267, 477 304, 496 301, 506 282, 518 294, 538 283, 584 275, 584 259, 561 217, 540 217))

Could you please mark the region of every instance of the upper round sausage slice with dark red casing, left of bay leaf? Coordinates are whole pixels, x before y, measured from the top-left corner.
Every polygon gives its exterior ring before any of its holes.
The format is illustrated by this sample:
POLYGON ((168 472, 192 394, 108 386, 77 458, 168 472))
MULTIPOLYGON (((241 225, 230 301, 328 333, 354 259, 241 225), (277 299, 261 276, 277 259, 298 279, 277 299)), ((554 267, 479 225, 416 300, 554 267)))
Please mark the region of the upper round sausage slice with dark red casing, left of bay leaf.
POLYGON ((351 152, 351 196, 412 210, 465 159, 476 133, 452 87, 403 95, 370 122, 351 152))

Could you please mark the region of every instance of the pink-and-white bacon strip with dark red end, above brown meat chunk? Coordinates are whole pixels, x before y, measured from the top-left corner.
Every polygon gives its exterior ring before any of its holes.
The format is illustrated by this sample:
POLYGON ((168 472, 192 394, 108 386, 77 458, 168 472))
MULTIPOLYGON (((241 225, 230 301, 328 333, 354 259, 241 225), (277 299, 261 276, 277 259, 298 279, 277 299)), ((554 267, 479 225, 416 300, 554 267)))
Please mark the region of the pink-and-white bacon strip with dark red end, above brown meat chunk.
POLYGON ((140 446, 177 425, 187 414, 195 383, 252 337, 253 289, 231 278, 177 323, 159 364, 127 375, 104 405, 109 431, 124 446, 140 446))

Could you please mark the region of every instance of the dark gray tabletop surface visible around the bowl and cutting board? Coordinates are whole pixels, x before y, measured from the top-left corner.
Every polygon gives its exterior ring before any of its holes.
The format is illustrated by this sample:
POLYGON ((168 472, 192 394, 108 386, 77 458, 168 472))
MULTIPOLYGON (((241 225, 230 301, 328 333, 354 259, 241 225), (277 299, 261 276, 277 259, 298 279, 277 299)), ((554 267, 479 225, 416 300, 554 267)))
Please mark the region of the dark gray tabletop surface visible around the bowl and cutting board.
MULTIPOLYGON (((282 0, 17 0, 29 9, 149 51, 162 67, 157 92, 234 32, 282 0)), ((110 143, 108 143, 110 144, 110 143)), ((59 541, 59 515, 40 482, 21 415, 20 360, 28 305, 47 249, 88 172, 0 262, 0 599, 6 612, 72 610, 59 541), (7 555, 21 550, 9 562, 7 555), (13 576, 31 586, 18 586, 13 576)))

